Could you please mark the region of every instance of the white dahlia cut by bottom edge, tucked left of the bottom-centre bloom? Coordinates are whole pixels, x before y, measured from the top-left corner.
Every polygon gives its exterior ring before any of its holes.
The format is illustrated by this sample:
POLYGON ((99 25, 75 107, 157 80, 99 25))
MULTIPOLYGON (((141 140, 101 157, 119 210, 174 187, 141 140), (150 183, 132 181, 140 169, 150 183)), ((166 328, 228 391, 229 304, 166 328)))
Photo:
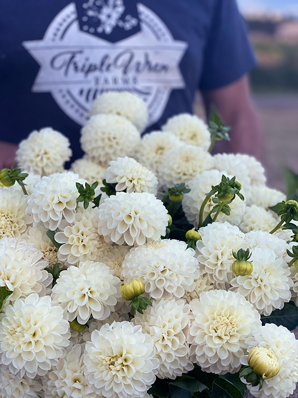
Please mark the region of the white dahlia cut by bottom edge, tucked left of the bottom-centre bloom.
POLYGON ((98 398, 87 385, 83 349, 74 345, 43 378, 44 398, 98 398))

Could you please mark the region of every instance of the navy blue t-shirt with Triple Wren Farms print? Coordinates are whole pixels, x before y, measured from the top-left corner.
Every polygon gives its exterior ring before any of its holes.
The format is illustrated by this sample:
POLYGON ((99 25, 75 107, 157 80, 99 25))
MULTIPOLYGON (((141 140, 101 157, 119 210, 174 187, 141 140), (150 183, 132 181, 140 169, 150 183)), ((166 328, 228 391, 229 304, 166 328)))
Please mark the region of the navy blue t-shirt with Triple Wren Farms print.
POLYGON ((2 0, 0 139, 52 126, 77 158, 101 92, 142 97, 156 130, 254 64, 235 0, 2 0))

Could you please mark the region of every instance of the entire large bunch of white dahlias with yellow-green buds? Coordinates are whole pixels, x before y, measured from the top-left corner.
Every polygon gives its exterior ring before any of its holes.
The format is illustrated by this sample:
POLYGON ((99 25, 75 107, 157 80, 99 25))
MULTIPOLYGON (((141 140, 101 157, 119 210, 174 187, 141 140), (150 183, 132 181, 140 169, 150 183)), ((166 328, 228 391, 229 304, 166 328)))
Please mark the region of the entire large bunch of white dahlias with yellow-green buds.
POLYGON ((286 398, 298 381, 298 202, 213 111, 141 137, 105 93, 69 141, 0 171, 1 398, 286 398), (290 330, 289 330, 290 329, 290 330))

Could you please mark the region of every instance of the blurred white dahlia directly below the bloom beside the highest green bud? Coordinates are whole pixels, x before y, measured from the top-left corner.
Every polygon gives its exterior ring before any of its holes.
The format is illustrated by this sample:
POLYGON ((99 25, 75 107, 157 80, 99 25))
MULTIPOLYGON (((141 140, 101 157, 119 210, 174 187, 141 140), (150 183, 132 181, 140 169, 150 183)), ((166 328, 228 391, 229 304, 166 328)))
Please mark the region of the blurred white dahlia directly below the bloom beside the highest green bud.
POLYGON ((187 183, 213 167, 209 152, 195 145, 181 144, 167 151, 158 167, 159 183, 166 188, 187 183))

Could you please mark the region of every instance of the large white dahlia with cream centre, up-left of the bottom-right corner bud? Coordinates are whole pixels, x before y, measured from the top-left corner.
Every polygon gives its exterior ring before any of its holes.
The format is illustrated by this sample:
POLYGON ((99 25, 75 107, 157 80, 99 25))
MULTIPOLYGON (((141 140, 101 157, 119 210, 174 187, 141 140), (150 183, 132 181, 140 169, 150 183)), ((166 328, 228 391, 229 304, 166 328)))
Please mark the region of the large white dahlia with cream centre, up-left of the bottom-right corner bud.
POLYGON ((260 314, 239 293, 225 290, 204 292, 190 307, 195 317, 188 333, 193 360, 208 373, 237 372, 247 337, 262 325, 260 314))

